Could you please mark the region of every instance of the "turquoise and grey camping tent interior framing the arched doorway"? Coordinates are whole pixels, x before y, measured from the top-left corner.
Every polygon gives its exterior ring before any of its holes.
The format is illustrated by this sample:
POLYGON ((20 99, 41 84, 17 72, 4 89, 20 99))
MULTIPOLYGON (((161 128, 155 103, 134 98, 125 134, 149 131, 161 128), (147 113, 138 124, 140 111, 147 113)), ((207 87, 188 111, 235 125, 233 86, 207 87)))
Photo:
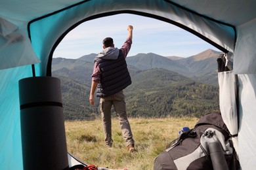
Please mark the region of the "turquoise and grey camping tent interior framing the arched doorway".
POLYGON ((234 144, 242 169, 255 168, 255 7, 254 0, 1 0, 0 169, 23 167, 19 80, 51 76, 54 49, 69 31, 121 13, 175 24, 228 54, 234 65, 219 73, 220 109, 230 133, 238 134, 234 144))

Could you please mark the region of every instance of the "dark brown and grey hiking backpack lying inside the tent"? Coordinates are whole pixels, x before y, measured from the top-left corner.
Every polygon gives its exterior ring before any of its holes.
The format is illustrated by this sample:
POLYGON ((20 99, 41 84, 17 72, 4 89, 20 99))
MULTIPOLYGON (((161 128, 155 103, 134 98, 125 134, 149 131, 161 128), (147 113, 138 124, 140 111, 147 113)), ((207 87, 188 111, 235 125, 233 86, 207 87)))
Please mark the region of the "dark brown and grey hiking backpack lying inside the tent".
POLYGON ((231 138, 221 113, 209 112, 167 145, 154 160, 154 170, 240 169, 231 138))

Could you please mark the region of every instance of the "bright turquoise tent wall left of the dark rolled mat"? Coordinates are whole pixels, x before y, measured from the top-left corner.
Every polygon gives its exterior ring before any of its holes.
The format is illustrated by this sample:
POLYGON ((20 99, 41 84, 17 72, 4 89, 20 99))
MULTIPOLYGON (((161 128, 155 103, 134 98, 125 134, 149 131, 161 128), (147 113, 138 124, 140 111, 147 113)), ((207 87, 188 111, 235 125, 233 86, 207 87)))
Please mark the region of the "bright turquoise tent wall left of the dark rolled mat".
POLYGON ((0 71, 0 169, 22 167, 18 80, 32 76, 31 65, 0 71))

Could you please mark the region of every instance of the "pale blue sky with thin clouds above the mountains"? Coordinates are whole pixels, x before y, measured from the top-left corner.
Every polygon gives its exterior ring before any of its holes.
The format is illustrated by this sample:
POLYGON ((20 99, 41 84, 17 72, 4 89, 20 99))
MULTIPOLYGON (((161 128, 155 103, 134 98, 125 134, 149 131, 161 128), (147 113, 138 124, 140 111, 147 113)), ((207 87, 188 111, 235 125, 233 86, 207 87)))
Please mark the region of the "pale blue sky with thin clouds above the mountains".
POLYGON ((153 52, 161 56, 189 57, 209 48, 211 44, 175 25, 135 14, 117 14, 90 20, 78 25, 64 37, 53 58, 80 58, 102 50, 102 40, 112 37, 120 48, 127 38, 127 25, 133 25, 133 44, 128 56, 153 52))

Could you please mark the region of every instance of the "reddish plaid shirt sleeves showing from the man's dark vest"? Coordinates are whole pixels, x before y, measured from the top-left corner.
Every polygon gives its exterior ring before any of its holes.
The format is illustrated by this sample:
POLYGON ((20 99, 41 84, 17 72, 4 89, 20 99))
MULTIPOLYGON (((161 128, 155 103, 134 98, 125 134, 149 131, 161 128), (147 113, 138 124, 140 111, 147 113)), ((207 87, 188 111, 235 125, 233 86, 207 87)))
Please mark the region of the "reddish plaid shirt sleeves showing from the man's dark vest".
MULTIPOLYGON (((123 55, 125 56, 125 58, 127 57, 129 50, 131 49, 132 43, 133 43, 133 41, 128 38, 125 41, 125 43, 123 43, 123 46, 120 48, 120 50, 123 52, 123 55)), ((98 67, 98 64, 95 62, 95 65, 93 67, 92 80, 95 82, 100 82, 100 74, 101 74, 100 67, 98 67)))

